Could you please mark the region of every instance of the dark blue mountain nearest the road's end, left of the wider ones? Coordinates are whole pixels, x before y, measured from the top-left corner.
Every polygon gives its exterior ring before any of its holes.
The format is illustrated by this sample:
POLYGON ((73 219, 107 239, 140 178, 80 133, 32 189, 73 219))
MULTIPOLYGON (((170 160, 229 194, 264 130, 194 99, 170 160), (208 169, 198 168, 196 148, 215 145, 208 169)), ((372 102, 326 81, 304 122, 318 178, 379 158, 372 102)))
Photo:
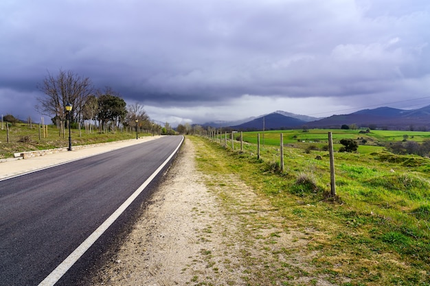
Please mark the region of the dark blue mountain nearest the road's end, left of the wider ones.
POLYGON ((237 126, 231 126, 234 130, 243 130, 243 131, 251 131, 251 130, 282 130, 288 128, 296 128, 297 126, 303 126, 306 124, 306 121, 288 117, 280 114, 279 112, 273 112, 269 115, 264 115, 262 117, 258 117, 251 121, 242 123, 237 126))

